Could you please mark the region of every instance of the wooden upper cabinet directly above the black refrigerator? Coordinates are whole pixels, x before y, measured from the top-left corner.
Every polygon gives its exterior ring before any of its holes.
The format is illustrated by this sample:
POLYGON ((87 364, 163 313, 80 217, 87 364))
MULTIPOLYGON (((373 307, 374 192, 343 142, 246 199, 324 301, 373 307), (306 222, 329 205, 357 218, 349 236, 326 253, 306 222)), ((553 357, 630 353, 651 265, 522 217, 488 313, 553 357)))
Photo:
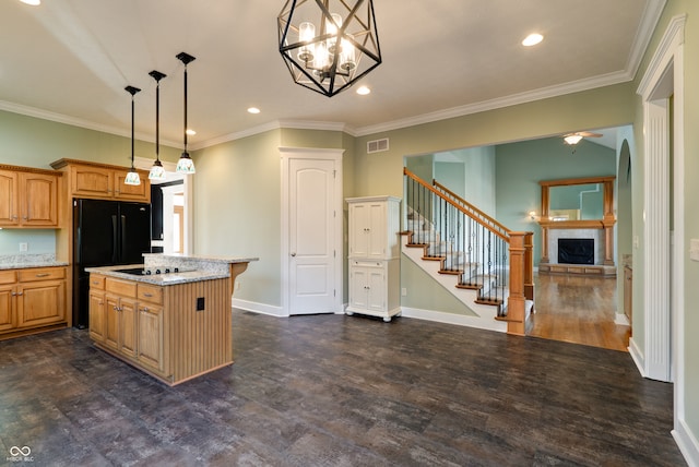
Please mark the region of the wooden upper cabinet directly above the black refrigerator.
POLYGON ((126 184, 129 169, 84 160, 60 159, 51 164, 55 169, 68 170, 68 191, 71 197, 151 202, 149 173, 139 170, 141 184, 126 184))

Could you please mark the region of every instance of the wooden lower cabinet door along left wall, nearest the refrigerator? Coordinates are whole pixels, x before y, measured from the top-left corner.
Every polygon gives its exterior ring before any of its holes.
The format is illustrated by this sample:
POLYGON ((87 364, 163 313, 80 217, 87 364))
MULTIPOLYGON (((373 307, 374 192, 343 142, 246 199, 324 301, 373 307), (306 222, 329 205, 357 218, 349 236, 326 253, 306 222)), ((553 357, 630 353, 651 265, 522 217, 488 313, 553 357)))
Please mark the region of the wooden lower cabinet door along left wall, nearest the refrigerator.
POLYGON ((66 319, 66 282, 27 283, 17 288, 17 327, 59 323, 66 319))

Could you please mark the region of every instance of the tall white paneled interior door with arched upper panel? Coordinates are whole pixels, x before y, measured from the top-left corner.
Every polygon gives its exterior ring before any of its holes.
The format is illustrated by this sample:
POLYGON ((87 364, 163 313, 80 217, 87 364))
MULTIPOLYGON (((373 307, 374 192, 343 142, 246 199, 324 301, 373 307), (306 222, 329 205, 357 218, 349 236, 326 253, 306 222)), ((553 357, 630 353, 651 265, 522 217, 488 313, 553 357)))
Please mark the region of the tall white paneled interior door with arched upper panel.
POLYGON ((337 164, 335 157, 323 158, 312 152, 286 161, 288 314, 341 311, 342 200, 337 195, 342 191, 337 190, 337 164))

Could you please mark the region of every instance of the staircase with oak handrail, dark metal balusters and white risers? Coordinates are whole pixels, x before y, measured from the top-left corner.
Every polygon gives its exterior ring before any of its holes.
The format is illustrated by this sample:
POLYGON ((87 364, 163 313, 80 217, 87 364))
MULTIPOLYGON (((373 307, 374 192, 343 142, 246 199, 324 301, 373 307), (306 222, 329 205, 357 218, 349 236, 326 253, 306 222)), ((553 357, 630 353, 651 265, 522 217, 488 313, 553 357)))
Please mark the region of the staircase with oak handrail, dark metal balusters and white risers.
POLYGON ((533 234, 509 230, 437 181, 403 173, 403 253, 475 313, 466 325, 524 335, 534 306, 533 234))

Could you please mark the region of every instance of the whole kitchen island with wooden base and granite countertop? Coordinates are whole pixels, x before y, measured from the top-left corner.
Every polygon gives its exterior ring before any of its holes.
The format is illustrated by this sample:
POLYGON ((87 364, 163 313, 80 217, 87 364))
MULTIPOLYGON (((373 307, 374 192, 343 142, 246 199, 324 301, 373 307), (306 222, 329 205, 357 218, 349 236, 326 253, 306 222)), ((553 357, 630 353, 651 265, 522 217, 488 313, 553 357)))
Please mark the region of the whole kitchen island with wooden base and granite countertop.
POLYGON ((258 259, 143 258, 85 270, 95 346, 169 385, 232 364, 234 284, 258 259))

